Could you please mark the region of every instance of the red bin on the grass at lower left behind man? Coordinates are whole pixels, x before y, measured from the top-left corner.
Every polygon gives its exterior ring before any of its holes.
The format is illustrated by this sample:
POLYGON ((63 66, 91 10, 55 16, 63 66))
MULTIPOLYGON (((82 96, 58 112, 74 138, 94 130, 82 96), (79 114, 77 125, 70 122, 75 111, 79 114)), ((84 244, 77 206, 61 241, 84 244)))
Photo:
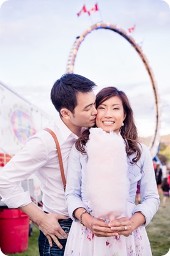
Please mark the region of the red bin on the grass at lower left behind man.
POLYGON ((9 254, 28 249, 29 217, 20 209, 0 208, 0 247, 9 254))

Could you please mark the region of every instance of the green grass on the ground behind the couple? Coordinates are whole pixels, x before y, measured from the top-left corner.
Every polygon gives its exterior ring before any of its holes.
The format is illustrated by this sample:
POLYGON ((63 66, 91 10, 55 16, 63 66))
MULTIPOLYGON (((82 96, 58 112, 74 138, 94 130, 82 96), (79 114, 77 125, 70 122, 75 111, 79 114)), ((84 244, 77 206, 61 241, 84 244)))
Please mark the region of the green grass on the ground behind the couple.
MULTIPOLYGON (((157 214, 153 217, 150 224, 147 226, 147 234, 149 236, 150 245, 152 248, 153 256, 166 255, 170 248, 170 201, 166 202, 166 208, 162 207, 158 209, 157 214)), ((10 256, 39 256, 37 239, 39 236, 39 230, 34 227, 33 235, 29 237, 28 250, 17 254, 7 254, 10 256)), ((169 254, 170 255, 170 252, 169 254)), ((167 256, 168 256, 167 255, 167 256)), ((121 255, 125 256, 125 255, 121 255)), ((147 256, 147 255, 142 255, 147 256)))

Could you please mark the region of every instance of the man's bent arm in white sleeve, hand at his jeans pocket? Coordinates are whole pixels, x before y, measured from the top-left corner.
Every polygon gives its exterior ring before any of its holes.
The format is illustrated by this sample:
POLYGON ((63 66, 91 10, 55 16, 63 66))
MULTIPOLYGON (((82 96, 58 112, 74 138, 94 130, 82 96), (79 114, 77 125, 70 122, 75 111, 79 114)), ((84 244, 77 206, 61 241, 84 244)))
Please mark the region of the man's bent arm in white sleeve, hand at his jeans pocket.
MULTIPOLYGON (((46 133, 47 134, 47 133, 46 133)), ((48 134, 47 134, 48 135, 48 134)), ((44 137, 43 137, 44 139, 44 137)), ((51 138, 53 140, 53 138, 51 138)), ((39 225, 40 230, 47 236, 50 246, 52 239, 62 248, 57 237, 67 235, 58 223, 58 219, 68 219, 61 214, 45 214, 31 202, 29 192, 24 192, 20 182, 27 179, 35 171, 45 165, 47 159, 46 145, 42 138, 30 138, 26 146, 18 152, 1 170, 0 195, 9 208, 19 208, 39 225)))

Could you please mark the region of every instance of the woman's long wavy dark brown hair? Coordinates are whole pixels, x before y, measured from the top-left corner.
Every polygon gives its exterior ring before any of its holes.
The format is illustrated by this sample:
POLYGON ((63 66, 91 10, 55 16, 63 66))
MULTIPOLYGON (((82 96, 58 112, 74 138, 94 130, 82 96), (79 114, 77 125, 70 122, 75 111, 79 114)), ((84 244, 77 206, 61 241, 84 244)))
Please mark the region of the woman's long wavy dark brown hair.
MULTIPOLYGON (((138 132, 133 118, 133 110, 130 106, 130 102, 125 92, 119 91, 116 87, 112 86, 103 88, 100 92, 98 92, 96 96, 96 108, 98 108, 98 106, 102 104, 105 100, 108 100, 114 96, 119 97, 124 107, 124 113, 126 114, 126 118, 124 120, 124 126, 122 126, 120 129, 120 134, 122 135, 126 143, 127 156, 135 153, 135 157, 132 159, 132 162, 135 164, 141 157, 141 145, 138 141, 138 132)), ((87 140, 89 140, 90 134, 89 129, 90 128, 84 130, 81 137, 79 137, 76 141, 76 149, 82 154, 86 153, 86 143, 87 140)))

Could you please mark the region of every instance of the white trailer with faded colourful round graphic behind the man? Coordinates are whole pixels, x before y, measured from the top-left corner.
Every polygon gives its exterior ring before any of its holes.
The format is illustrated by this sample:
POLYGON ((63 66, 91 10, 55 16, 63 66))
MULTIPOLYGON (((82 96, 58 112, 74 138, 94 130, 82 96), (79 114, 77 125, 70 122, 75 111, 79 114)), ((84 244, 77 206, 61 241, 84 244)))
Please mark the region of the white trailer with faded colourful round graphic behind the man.
MULTIPOLYGON (((26 140, 43 129, 51 119, 50 115, 0 82, 0 171, 23 148, 26 140)), ((39 200, 40 182, 35 175, 22 185, 39 200)))

